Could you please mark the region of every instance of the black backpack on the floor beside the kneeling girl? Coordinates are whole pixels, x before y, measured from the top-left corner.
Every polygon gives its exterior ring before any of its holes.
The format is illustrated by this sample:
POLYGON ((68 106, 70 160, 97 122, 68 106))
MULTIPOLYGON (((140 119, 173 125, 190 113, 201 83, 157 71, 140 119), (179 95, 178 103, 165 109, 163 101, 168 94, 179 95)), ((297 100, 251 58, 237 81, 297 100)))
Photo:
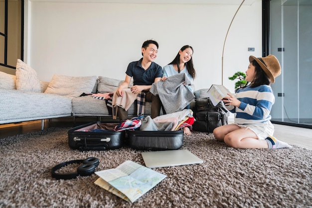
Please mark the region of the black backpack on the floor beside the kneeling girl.
POLYGON ((192 127, 194 131, 212 133, 218 126, 228 124, 230 112, 221 101, 214 106, 210 98, 195 99, 194 118, 192 127))

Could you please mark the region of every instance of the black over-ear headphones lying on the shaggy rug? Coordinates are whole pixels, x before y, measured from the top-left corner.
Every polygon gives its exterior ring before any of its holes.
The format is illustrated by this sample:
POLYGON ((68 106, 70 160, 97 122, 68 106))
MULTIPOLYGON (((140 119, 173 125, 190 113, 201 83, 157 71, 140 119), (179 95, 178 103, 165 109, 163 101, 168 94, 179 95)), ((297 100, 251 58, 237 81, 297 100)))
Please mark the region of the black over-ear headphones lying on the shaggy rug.
POLYGON ((74 179, 77 176, 90 176, 94 173, 95 168, 99 165, 99 159, 96 157, 88 157, 84 160, 71 160, 60 163, 54 166, 51 170, 52 178, 59 179, 74 179), (73 163, 83 163, 77 168, 77 172, 74 173, 55 173, 58 169, 73 163))

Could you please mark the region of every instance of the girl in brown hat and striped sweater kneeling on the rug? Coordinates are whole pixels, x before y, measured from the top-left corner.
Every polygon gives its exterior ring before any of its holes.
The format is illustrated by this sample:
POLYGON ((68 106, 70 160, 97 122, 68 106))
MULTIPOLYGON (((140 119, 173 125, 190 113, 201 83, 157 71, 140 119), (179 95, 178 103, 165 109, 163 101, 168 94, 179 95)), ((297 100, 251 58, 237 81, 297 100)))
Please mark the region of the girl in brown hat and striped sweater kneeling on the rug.
POLYGON ((272 136, 274 126, 270 121, 275 101, 270 84, 281 74, 280 63, 273 55, 250 56, 249 62, 246 71, 249 85, 223 100, 226 107, 236 113, 235 122, 215 128, 213 134, 217 140, 234 148, 291 148, 272 136))

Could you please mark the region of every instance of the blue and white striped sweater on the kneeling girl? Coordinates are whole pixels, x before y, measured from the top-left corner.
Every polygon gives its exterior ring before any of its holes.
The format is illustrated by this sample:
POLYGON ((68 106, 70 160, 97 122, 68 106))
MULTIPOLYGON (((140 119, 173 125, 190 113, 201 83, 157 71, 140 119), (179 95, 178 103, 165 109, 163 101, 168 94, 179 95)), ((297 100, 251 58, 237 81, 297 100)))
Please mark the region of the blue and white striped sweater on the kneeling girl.
POLYGON ((226 106, 232 113, 236 113, 237 124, 260 123, 271 119, 271 108, 275 97, 272 88, 261 85, 256 88, 250 86, 239 89, 235 97, 241 102, 238 107, 226 106))

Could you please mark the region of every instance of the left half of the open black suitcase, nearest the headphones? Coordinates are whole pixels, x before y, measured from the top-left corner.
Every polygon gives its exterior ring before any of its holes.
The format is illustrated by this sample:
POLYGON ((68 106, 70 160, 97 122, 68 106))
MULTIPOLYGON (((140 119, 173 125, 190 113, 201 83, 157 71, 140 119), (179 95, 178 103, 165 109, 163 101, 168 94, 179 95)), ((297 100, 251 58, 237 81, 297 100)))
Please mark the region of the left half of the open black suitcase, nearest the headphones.
POLYGON ((68 145, 72 149, 118 149, 125 143, 126 132, 114 131, 119 123, 92 122, 68 130, 68 145))

